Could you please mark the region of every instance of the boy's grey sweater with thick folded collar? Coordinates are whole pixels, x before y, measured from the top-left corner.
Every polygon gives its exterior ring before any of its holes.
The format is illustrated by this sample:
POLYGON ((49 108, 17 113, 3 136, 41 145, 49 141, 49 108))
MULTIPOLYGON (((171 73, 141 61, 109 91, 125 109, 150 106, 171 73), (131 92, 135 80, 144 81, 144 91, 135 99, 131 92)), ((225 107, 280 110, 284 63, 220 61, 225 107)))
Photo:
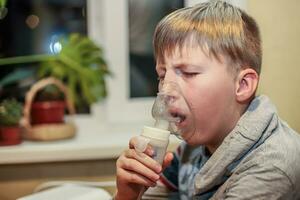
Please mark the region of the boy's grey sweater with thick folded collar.
MULTIPOLYGON (((194 176, 192 199, 300 199, 300 135, 256 97, 194 176)), ((143 199, 186 198, 159 185, 143 199)))

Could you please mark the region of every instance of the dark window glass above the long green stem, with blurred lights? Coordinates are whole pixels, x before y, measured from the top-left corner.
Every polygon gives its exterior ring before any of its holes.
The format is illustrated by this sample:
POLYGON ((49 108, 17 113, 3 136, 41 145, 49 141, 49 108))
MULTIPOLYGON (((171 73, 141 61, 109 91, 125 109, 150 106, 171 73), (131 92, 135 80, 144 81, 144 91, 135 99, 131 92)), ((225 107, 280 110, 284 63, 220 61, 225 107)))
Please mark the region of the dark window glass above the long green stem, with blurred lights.
POLYGON ((52 53, 57 37, 86 34, 85 0, 9 0, 0 20, 0 57, 52 53))

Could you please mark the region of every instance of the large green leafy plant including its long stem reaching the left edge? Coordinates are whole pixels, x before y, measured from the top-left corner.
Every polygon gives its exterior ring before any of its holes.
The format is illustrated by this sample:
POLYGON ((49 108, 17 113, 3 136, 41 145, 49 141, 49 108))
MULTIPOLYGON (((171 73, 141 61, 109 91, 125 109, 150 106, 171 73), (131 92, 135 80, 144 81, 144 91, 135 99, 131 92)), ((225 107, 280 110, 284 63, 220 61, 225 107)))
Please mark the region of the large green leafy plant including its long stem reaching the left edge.
POLYGON ((105 78, 110 75, 110 71, 101 47, 89 37, 78 33, 60 38, 53 46, 55 54, 1 58, 0 66, 38 63, 38 78, 54 77, 63 82, 77 109, 106 97, 105 78))

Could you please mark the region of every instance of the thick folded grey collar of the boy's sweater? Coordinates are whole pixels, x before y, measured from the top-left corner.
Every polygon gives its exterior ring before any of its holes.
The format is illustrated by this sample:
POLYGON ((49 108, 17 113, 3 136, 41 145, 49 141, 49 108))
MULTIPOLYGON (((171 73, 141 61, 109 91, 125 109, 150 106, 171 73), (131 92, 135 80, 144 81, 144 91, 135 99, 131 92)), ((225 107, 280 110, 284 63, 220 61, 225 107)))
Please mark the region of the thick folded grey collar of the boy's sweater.
POLYGON ((226 136, 195 177, 195 192, 203 193, 224 182, 228 170, 233 170, 253 147, 263 142, 278 124, 276 108, 266 96, 250 103, 235 128, 226 136))

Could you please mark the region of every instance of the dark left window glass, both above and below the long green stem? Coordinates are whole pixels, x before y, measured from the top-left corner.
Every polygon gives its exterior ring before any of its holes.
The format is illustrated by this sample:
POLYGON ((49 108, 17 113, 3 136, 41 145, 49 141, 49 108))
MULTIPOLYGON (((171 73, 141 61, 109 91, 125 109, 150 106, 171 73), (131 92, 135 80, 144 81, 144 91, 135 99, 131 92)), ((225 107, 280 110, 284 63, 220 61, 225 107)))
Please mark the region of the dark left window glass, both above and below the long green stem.
MULTIPOLYGON (((86 0, 9 0, 6 7, 0 20, 0 59, 56 53, 60 37, 87 34, 86 0)), ((37 68, 38 63, 0 66, 0 100, 24 100, 37 68)))

